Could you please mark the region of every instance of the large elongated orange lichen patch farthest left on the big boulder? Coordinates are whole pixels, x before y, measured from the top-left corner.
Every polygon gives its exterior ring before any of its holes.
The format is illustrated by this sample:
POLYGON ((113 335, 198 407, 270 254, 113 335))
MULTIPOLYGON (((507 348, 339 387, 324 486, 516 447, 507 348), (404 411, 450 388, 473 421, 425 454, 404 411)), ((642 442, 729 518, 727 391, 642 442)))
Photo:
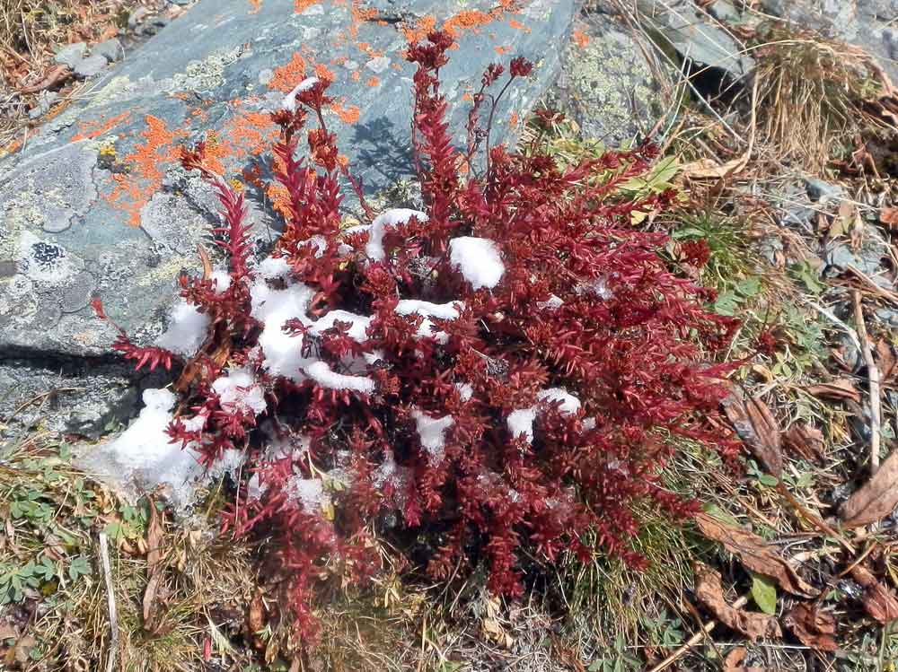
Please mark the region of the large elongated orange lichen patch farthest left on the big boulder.
POLYGON ((131 226, 140 226, 140 209, 163 185, 163 164, 178 159, 175 140, 187 135, 184 130, 169 130, 163 119, 153 115, 146 115, 145 120, 146 128, 140 134, 144 142, 125 157, 128 170, 112 176, 116 186, 106 196, 111 205, 128 213, 131 226))

